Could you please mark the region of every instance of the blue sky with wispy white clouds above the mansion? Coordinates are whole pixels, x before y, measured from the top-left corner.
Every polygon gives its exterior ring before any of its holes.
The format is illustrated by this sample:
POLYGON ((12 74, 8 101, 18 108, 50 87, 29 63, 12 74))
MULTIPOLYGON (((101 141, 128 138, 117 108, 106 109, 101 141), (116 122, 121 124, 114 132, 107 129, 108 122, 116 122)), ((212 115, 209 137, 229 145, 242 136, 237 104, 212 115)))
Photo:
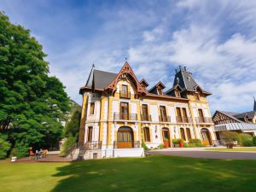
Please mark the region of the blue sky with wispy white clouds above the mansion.
POLYGON ((93 62, 118 73, 127 57, 149 86, 170 88, 182 64, 212 92, 212 112, 253 109, 256 1, 2 0, 0 9, 43 44, 50 74, 76 102, 93 62))

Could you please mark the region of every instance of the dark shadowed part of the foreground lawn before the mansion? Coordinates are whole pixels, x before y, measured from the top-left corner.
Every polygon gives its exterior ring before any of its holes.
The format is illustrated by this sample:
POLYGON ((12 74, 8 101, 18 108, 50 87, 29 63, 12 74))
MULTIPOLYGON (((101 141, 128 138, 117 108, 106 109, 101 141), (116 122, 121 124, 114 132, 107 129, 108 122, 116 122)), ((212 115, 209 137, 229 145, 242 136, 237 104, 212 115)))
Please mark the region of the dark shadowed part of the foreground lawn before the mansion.
POLYGON ((170 156, 87 160, 58 168, 57 191, 253 191, 256 161, 170 156))

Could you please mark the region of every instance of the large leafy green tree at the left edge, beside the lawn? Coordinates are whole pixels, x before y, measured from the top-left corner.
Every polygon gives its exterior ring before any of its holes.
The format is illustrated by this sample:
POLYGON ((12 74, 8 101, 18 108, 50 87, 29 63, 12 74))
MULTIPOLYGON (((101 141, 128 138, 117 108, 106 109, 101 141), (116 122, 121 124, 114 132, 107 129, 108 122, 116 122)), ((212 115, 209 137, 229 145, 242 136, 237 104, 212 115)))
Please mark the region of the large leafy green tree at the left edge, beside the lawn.
POLYGON ((49 63, 30 31, 0 12, 0 134, 17 154, 57 143, 69 110, 63 84, 49 77, 49 63))

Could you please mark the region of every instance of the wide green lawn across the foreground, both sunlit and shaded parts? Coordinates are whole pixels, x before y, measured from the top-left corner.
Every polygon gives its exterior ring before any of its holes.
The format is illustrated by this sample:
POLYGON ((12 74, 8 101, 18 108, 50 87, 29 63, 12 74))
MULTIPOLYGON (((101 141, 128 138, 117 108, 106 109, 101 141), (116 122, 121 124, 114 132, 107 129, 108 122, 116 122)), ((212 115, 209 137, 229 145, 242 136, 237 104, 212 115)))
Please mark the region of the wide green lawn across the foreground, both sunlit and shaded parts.
POLYGON ((0 191, 255 191, 255 160, 172 156, 0 164, 0 191))

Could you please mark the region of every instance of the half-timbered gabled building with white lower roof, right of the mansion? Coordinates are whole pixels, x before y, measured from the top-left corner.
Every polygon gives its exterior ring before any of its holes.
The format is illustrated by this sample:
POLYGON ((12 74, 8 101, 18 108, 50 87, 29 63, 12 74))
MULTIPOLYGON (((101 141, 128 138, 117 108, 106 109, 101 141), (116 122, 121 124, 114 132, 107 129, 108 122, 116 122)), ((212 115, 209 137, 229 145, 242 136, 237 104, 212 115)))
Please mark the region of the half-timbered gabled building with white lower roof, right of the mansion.
POLYGON ((214 131, 219 141, 222 140, 223 131, 236 131, 256 136, 256 101, 254 99, 253 111, 244 113, 216 111, 212 119, 214 131))

